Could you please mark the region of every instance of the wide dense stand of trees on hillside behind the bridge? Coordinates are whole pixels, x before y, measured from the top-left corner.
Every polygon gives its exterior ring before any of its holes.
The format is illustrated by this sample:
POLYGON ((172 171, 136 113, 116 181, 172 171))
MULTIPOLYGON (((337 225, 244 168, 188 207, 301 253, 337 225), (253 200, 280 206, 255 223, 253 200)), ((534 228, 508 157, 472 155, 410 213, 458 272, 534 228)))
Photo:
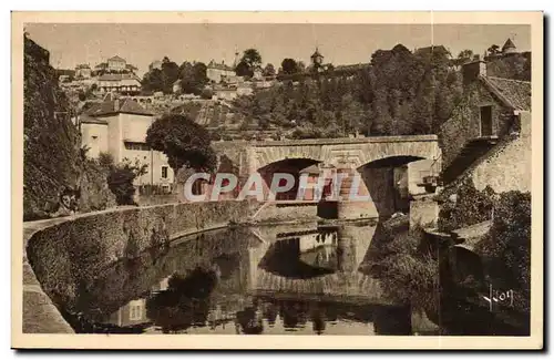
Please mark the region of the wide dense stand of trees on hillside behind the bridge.
MULTIPOLYGON (((285 59, 283 73, 298 72, 295 64, 285 59)), ((285 81, 256 92, 236 106, 256 122, 263 117, 277 126, 293 122, 301 128, 295 136, 311 136, 304 135, 305 128, 334 128, 334 137, 416 135, 435 133, 462 93, 447 53, 412 53, 402 45, 376 51, 371 66, 351 76, 330 72, 297 80, 298 84, 285 81)))

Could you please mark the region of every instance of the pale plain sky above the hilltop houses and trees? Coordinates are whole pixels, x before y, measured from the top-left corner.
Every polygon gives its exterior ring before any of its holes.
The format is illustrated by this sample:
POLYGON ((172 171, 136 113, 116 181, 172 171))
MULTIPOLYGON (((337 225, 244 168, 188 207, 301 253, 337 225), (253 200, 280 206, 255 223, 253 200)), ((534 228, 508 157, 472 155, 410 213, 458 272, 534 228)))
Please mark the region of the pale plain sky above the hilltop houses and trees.
POLYGON ((50 51, 54 68, 91 66, 113 55, 147 71, 154 60, 212 59, 232 64, 235 52, 258 49, 264 64, 283 59, 309 63, 316 47, 335 65, 369 62, 379 49, 401 43, 410 50, 442 44, 452 55, 471 49, 483 54, 512 38, 520 51, 531 50, 531 27, 517 24, 223 24, 223 23, 27 23, 25 31, 50 51))

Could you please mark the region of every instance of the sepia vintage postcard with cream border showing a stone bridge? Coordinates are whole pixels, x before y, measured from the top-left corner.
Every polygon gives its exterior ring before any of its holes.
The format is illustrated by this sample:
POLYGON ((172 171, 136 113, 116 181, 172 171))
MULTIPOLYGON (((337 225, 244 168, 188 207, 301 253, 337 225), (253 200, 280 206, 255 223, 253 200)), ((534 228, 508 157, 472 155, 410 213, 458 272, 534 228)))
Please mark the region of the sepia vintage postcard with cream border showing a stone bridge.
POLYGON ((12 104, 13 348, 543 348, 542 12, 12 12, 12 104))

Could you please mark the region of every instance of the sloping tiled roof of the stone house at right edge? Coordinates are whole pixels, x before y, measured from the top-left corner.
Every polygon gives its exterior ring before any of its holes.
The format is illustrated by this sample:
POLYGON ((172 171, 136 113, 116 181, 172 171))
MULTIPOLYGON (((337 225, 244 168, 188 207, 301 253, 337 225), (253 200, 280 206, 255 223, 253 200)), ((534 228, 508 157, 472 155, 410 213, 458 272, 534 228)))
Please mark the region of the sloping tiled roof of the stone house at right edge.
POLYGON ((531 82, 513 79, 483 76, 485 85, 507 106, 531 110, 531 82))

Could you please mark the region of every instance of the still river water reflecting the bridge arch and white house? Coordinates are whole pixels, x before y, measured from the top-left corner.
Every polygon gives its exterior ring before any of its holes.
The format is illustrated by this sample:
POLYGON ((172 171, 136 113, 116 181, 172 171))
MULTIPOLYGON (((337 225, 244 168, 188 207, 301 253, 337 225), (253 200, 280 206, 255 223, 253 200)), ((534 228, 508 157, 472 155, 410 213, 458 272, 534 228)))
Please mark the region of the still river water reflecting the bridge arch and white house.
MULTIPOLYGON (((360 270, 375 237, 375 224, 188 236, 99 276, 79 294, 73 326, 112 333, 412 335, 409 308, 384 300, 379 281, 360 270)), ((433 325, 422 333, 435 333, 433 325)))

